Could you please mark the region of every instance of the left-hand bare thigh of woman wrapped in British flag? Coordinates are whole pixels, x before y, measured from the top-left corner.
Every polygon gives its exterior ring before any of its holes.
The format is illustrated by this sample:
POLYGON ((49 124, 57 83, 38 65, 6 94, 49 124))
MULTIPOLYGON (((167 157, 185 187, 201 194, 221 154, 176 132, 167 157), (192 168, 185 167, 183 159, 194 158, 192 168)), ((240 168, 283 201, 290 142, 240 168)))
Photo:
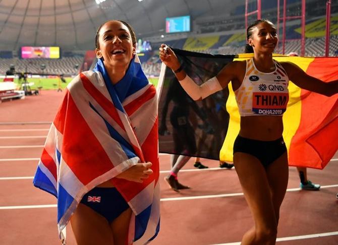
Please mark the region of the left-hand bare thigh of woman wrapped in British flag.
POLYGON ((72 215, 71 225, 78 245, 114 244, 107 220, 82 203, 72 215))

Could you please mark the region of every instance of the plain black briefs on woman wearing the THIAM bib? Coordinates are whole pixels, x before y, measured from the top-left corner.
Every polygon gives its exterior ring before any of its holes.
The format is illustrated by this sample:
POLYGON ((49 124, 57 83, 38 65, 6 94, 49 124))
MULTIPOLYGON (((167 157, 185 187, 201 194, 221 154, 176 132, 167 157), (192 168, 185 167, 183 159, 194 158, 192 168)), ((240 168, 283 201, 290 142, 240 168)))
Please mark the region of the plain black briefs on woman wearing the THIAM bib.
POLYGON ((286 151, 287 146, 283 137, 271 141, 262 141, 238 135, 234 143, 234 154, 235 152, 244 152, 253 155, 260 160, 264 168, 267 168, 286 151))

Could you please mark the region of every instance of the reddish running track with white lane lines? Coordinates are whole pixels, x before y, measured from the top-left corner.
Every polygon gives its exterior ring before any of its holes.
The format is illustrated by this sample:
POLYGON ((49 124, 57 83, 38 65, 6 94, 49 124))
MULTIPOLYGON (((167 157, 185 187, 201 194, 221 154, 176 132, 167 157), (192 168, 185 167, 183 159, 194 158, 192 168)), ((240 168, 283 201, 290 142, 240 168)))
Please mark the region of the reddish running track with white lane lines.
MULTIPOLYGON (((45 136, 63 93, 0 104, 0 237, 2 244, 61 244, 56 200, 33 187, 32 178, 45 136), (34 123, 31 123, 34 122, 34 123)), ((189 161, 179 179, 192 188, 176 193, 163 178, 169 155, 160 155, 161 228, 151 244, 240 244, 253 225, 235 170, 196 170, 189 161)), ((338 152, 322 171, 308 170, 320 191, 300 191, 296 168, 290 168, 288 192, 280 211, 277 244, 338 244, 338 152)), ((75 244, 70 228, 68 243, 75 244)))

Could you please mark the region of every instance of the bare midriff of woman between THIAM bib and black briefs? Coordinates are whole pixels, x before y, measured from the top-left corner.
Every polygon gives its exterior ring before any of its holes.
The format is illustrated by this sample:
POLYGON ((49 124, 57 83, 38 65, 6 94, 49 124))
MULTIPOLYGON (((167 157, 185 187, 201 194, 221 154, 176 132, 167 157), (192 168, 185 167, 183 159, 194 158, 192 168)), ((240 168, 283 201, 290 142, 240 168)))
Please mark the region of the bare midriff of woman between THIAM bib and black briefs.
POLYGON ((283 134, 283 117, 281 116, 247 116, 241 117, 239 135, 256 140, 275 140, 283 134))

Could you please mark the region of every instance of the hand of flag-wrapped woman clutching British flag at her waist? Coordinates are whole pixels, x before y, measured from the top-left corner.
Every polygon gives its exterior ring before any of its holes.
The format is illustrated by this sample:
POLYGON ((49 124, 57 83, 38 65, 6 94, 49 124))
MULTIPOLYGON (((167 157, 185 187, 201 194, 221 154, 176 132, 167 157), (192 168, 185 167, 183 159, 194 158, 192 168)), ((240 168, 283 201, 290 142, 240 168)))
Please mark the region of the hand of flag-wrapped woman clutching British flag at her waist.
POLYGON ((116 178, 143 183, 143 180, 148 179, 149 175, 153 173, 153 171, 150 169, 151 166, 152 163, 150 161, 140 162, 137 165, 134 165, 122 172, 116 178))

